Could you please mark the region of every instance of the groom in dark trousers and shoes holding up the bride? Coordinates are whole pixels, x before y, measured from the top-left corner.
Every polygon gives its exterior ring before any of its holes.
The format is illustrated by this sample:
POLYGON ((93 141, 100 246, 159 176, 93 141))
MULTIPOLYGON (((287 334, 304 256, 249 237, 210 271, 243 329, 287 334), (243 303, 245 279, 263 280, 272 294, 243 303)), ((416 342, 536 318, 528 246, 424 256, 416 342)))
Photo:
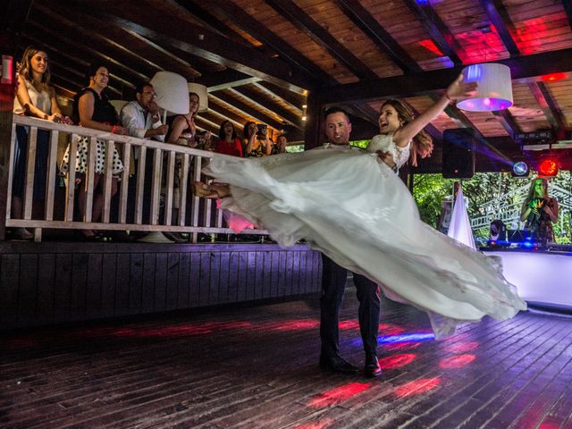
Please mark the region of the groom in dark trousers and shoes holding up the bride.
MULTIPOLYGON (((325 113, 326 149, 349 146, 351 123, 348 114, 339 107, 332 107, 325 113)), ((337 265, 322 254, 322 297, 320 299, 320 366, 340 373, 355 373, 357 366, 351 365, 340 356, 339 313, 346 288, 348 270, 337 265)), ((366 351, 364 373, 369 377, 382 374, 377 361, 377 332, 380 314, 379 286, 365 276, 353 273, 359 301, 359 332, 366 351)))

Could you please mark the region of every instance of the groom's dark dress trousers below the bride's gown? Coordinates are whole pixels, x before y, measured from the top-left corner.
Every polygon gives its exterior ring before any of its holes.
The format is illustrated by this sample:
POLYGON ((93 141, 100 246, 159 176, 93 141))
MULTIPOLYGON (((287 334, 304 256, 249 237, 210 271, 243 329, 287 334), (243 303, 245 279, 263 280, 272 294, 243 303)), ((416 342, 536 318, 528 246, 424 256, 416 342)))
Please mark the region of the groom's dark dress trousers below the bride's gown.
MULTIPOLYGON (((322 354, 332 356, 339 353, 340 334, 338 329, 340 306, 346 289, 348 270, 322 255, 322 297, 320 299, 320 339, 322 354)), ((380 295, 379 286, 365 276, 353 273, 356 284, 359 309, 357 319, 359 332, 366 353, 375 354, 379 330, 380 295)))

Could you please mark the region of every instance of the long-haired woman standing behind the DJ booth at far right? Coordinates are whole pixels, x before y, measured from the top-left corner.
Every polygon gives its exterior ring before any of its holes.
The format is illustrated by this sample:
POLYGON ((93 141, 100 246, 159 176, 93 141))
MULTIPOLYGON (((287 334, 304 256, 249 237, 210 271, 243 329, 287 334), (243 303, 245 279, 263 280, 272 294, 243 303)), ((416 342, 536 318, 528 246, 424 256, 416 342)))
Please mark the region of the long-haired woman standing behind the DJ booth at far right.
POLYGON ((558 211, 558 201, 548 196, 548 181, 543 177, 534 179, 520 208, 520 220, 534 240, 543 244, 554 241, 552 223, 558 221, 558 211))

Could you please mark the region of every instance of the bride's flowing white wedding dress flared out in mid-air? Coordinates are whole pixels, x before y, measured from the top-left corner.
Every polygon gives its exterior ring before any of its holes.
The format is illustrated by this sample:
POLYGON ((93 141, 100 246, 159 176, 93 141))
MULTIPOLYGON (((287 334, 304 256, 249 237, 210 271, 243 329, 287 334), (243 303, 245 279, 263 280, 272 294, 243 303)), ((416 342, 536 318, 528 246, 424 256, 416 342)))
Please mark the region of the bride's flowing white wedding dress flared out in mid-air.
POLYGON ((344 147, 217 156, 205 172, 231 185, 223 207, 264 227, 282 246, 305 239, 378 282, 389 298, 427 311, 438 338, 459 321, 503 320, 526 309, 482 253, 420 220, 407 187, 374 153, 344 147))

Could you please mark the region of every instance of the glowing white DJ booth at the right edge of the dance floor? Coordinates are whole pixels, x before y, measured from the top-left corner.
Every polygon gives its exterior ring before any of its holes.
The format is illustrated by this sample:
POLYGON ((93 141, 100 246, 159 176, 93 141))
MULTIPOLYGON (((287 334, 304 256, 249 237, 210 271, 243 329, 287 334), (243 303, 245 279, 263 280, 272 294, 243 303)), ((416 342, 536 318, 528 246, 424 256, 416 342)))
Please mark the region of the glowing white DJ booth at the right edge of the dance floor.
POLYGON ((572 311, 572 244, 489 241, 481 250, 501 258, 505 278, 531 307, 572 311))

